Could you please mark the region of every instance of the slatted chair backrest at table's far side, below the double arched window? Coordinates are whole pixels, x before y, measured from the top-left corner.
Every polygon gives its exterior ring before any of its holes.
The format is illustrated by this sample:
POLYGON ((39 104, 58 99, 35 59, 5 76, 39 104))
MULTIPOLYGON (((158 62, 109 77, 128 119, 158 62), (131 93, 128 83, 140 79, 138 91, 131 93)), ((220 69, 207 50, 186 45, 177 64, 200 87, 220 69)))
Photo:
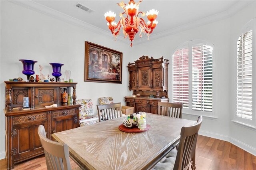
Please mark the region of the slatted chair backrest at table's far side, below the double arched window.
POLYGON ((182 118, 182 103, 158 102, 158 115, 182 118))

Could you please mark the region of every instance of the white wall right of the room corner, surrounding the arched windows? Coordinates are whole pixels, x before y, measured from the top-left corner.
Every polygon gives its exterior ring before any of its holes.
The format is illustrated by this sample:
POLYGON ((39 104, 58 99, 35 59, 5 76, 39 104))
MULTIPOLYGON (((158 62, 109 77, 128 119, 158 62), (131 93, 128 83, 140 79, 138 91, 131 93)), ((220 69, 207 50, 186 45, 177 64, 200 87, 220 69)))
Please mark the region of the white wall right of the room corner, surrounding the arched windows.
MULTIPOLYGON (((166 36, 154 41, 134 45, 133 56, 153 55, 154 58, 164 56, 170 60, 168 95, 172 97, 172 85, 170 77, 172 75, 172 54, 176 47, 189 40, 206 40, 215 45, 214 48, 214 117, 204 117, 200 134, 230 141, 233 144, 256 155, 256 131, 252 128, 241 127, 231 122, 235 114, 235 105, 230 105, 230 101, 235 99, 236 91, 230 91, 235 84, 236 68, 231 63, 236 64, 236 54, 234 47, 238 37, 236 34, 242 26, 255 17, 255 2, 238 12, 235 16, 213 22, 204 26, 186 30, 174 35, 166 36), (240 21, 244 20, 244 21, 240 21), (238 22, 239 21, 239 22, 238 22), (233 42, 235 41, 235 42, 233 42), (232 49, 232 53, 230 52, 232 49), (230 62, 234 61, 234 62, 230 62), (230 63, 230 65, 229 65, 230 63), (231 70, 231 71, 230 71, 231 70), (231 97, 230 97, 231 96, 231 97)), ((135 58, 136 58, 135 57, 135 58)), ((134 58, 134 59, 135 59, 134 58)), ((234 103, 234 102, 233 102, 234 103)), ((194 115, 184 115, 185 119, 197 119, 194 115)))

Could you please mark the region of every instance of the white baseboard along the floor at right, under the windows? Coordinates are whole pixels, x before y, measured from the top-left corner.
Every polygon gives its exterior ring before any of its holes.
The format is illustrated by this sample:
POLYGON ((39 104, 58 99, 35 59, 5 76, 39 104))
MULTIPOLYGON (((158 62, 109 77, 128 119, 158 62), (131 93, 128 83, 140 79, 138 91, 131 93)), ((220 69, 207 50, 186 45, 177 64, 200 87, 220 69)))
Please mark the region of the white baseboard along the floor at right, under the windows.
POLYGON ((245 144, 245 143, 243 143, 235 138, 232 138, 230 136, 225 136, 222 134, 211 133, 211 132, 205 132, 205 131, 201 131, 201 130, 199 130, 198 134, 200 134, 202 136, 207 136, 210 138, 216 138, 216 139, 230 142, 230 143, 236 145, 237 147, 242 148, 246 152, 249 152, 250 154, 253 154, 254 156, 256 156, 256 148, 253 148, 252 146, 249 146, 248 144, 245 144))

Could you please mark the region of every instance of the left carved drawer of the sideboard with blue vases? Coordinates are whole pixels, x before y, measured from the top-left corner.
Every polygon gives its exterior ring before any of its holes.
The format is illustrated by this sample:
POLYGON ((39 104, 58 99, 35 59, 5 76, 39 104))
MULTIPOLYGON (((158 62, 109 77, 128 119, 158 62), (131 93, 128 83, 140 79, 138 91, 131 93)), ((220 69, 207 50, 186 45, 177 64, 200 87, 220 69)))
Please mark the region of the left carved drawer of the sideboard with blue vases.
POLYGON ((26 115, 26 116, 19 116, 13 118, 13 125, 18 125, 21 123, 29 123, 34 121, 43 121, 47 120, 47 112, 46 113, 38 113, 34 115, 26 115))

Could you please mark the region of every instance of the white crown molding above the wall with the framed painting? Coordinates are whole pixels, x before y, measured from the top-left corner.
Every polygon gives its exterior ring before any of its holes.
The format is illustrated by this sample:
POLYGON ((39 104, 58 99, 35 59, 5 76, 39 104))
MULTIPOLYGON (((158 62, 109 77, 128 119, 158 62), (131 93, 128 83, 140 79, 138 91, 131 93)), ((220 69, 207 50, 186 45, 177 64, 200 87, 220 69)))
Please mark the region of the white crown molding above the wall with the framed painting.
MULTIPOLYGON (((34 2, 32 0, 15 0, 15 1, 8 1, 8 2, 13 2, 14 4, 17 4, 17 5, 22 6, 24 8, 34 10, 36 12, 48 15, 48 16, 56 18, 58 20, 62 20, 64 22, 68 22, 70 24, 73 24, 75 26, 79 26, 81 28, 84 28, 86 30, 89 30, 91 32, 95 32, 95 33, 103 35, 103 36, 106 36, 108 38, 113 38, 113 40, 114 40, 114 36, 106 30, 103 30, 101 28, 98 28, 96 26, 88 24, 84 21, 78 20, 78 19, 76 19, 72 16, 69 16, 69 15, 66 15, 62 12, 53 10, 52 8, 48 8, 47 6, 44 6, 42 4, 38 4, 37 2, 34 2)), ((123 42, 123 43, 129 43, 130 42, 129 40, 124 39, 121 36, 117 36, 117 40, 120 41, 120 42, 123 42)))

